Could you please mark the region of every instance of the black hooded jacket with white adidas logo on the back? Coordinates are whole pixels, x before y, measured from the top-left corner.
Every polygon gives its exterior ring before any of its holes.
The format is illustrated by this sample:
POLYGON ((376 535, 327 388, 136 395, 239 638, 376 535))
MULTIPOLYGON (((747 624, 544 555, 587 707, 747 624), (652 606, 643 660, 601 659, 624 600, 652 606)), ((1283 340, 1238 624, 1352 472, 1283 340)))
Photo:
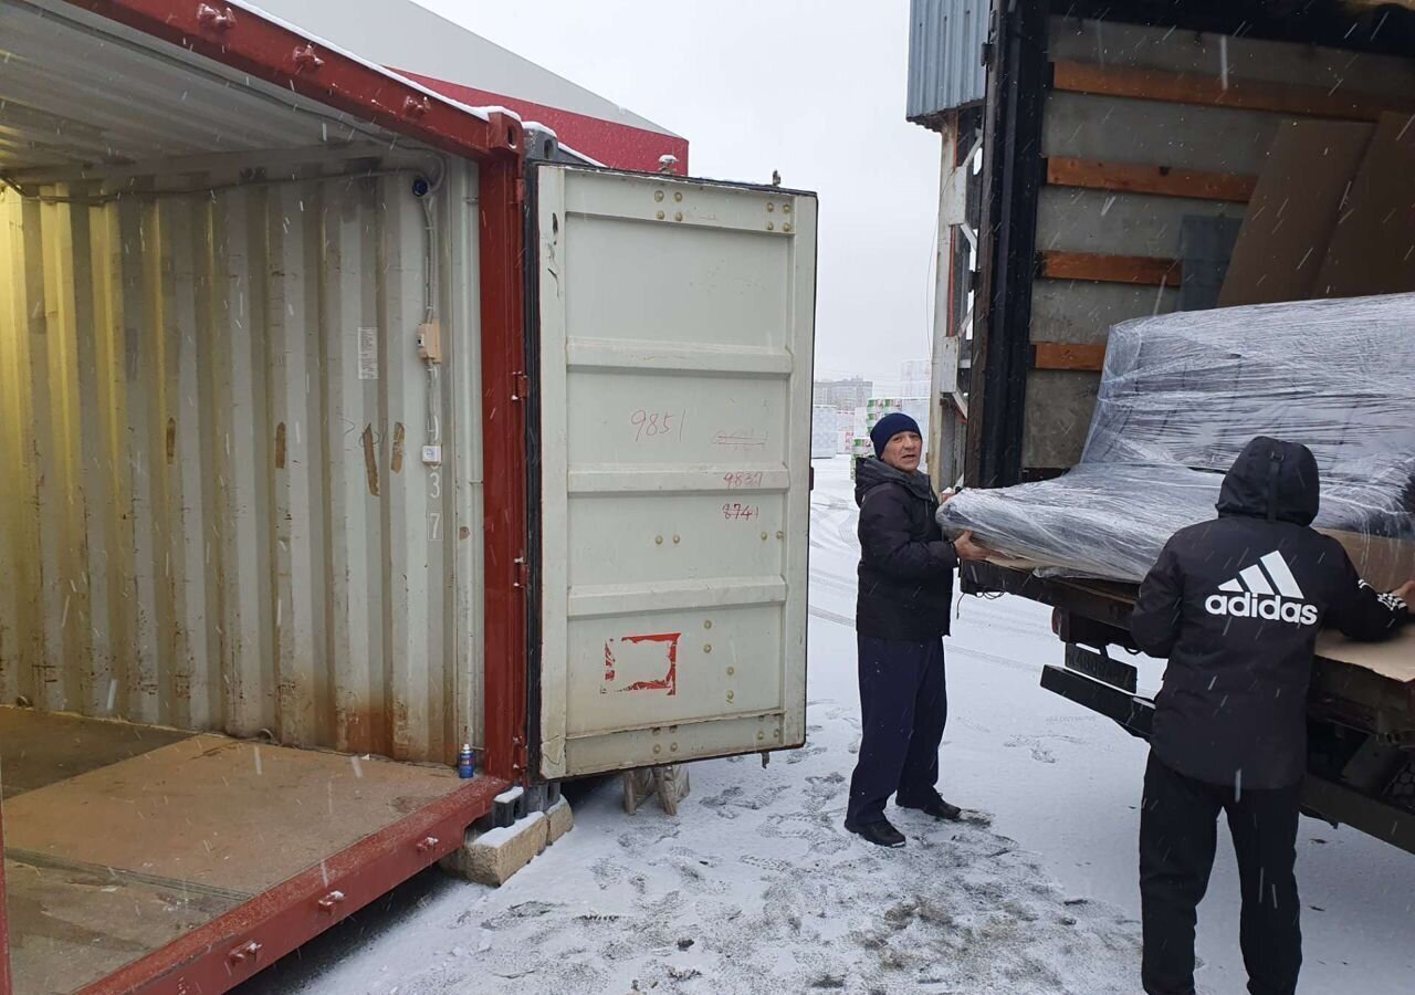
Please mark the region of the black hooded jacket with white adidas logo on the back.
POLYGON ((1319 502, 1312 452, 1259 436, 1224 477, 1218 518, 1176 532, 1145 577, 1131 631, 1169 657, 1150 746, 1173 770, 1240 791, 1296 784, 1317 633, 1374 641, 1409 621, 1309 528, 1319 502))

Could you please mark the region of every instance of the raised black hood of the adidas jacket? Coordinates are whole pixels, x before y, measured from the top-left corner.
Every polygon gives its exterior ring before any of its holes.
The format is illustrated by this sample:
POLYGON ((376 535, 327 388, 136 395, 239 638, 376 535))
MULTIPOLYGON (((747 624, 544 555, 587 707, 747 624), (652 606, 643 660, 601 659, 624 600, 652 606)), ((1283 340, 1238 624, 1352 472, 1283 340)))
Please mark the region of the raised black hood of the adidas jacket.
POLYGON ((1218 493, 1220 515, 1310 525, 1322 502, 1322 478, 1312 450, 1258 436, 1244 446, 1218 493))

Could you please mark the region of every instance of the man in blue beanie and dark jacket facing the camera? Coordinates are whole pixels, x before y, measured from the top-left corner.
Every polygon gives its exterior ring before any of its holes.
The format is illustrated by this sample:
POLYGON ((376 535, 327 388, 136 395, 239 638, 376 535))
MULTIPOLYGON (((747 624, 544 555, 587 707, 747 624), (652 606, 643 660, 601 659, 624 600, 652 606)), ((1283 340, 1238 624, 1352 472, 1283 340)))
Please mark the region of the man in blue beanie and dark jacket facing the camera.
POLYGON ((944 635, 954 569, 988 552, 972 534, 948 542, 938 528, 938 497, 918 470, 924 440, 914 419, 886 415, 870 442, 874 459, 855 464, 862 737, 845 828, 877 846, 903 846, 904 835, 884 818, 891 794, 900 808, 935 819, 959 815, 935 787, 948 718, 944 635))

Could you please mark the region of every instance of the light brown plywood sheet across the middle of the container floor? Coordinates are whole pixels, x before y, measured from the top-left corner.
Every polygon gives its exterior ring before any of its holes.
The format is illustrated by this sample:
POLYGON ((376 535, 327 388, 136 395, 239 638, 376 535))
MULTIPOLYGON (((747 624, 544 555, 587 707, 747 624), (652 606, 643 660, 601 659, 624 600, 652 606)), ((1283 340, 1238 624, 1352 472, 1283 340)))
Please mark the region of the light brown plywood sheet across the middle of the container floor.
POLYGON ((6 842, 259 893, 457 790, 450 767, 194 736, 6 803, 6 842))

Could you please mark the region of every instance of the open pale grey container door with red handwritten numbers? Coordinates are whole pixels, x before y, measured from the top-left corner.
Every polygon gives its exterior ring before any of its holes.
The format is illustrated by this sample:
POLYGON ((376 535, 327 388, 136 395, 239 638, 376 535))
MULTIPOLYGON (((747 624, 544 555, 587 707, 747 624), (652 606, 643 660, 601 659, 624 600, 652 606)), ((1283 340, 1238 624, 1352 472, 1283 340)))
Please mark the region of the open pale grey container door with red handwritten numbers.
POLYGON ((529 185, 539 773, 799 746, 815 197, 529 185))

